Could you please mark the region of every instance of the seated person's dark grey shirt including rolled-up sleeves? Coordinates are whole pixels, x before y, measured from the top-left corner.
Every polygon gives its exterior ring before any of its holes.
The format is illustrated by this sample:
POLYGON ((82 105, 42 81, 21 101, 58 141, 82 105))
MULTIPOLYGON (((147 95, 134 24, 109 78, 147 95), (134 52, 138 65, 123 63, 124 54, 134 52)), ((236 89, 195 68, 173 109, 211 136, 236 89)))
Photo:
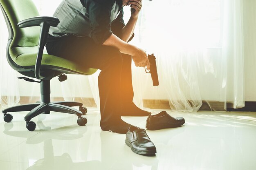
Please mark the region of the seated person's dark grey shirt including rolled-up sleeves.
POLYGON ((102 44, 112 31, 119 36, 125 26, 122 0, 63 0, 53 16, 60 23, 50 28, 48 42, 74 34, 102 44))

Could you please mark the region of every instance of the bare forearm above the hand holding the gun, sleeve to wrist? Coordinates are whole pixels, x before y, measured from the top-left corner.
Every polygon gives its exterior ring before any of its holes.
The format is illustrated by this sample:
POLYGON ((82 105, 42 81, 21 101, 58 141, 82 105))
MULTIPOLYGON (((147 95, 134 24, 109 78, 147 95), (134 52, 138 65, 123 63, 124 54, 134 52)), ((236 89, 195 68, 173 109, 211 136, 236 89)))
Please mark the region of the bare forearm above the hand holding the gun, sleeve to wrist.
POLYGON ((103 42, 102 45, 106 46, 113 46, 117 48, 121 53, 133 55, 136 50, 136 46, 133 46, 131 44, 128 44, 127 42, 124 42, 120 38, 118 38, 115 34, 111 34, 110 37, 103 42))

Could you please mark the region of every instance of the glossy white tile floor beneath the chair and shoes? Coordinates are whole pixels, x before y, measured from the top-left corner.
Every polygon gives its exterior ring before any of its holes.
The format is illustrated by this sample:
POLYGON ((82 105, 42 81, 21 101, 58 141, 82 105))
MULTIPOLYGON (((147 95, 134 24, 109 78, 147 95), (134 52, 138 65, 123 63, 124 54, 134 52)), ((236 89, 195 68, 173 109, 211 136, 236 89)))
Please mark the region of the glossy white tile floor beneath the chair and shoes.
MULTIPOLYGON (((88 109, 88 124, 76 116, 51 113, 34 118, 29 132, 23 117, 0 119, 0 170, 256 170, 256 113, 177 113, 179 128, 149 131, 155 156, 133 153, 124 134, 103 132, 100 115, 88 109)), ((158 113, 160 110, 153 110, 158 113)), ((123 117, 145 128, 146 117, 123 117)))

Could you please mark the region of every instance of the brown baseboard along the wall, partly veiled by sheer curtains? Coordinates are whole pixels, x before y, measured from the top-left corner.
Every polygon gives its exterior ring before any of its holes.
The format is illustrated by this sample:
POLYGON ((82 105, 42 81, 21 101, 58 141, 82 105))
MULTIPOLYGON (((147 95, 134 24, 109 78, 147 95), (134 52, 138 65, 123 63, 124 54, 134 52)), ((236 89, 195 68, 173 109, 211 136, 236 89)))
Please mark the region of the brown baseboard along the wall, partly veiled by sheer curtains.
MULTIPOLYGON (((28 97, 28 96, 21 96, 20 97, 20 104, 28 104, 28 103, 35 103, 40 100, 40 97, 28 97)), ((63 97, 51 97, 51 101, 64 101, 63 97)), ((85 107, 97 107, 94 99, 91 97, 76 97, 74 101, 81 102, 84 104, 85 107)), ((224 110, 224 102, 219 101, 202 101, 202 106, 199 110, 206 110, 206 111, 225 111, 224 110)), ((166 99, 143 99, 143 106, 145 108, 151 109, 171 109, 169 100, 166 99)), ((245 107, 243 108, 232 108, 233 104, 227 103, 227 111, 238 111, 238 112, 256 112, 256 102, 245 102, 245 107)))

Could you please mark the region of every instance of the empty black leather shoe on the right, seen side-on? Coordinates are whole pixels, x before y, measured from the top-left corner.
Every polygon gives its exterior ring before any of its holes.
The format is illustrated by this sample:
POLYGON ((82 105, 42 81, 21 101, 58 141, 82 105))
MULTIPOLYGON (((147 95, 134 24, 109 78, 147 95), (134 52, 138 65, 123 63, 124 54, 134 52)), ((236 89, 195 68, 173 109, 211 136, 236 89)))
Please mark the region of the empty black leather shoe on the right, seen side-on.
POLYGON ((147 118, 146 128, 148 130, 159 130, 165 128, 177 128, 185 123, 183 117, 171 117, 166 111, 157 115, 149 115, 147 118))

